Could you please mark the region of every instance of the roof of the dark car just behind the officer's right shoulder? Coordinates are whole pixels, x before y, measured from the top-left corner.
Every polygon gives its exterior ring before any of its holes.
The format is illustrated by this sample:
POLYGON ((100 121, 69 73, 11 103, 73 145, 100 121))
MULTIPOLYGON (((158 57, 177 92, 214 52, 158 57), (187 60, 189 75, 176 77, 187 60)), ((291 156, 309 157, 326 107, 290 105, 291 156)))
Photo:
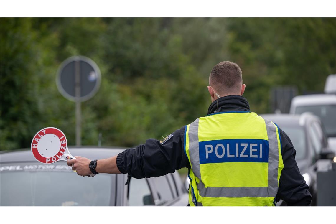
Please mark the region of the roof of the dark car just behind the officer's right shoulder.
POLYGON ((319 120, 319 118, 311 113, 296 114, 261 114, 264 119, 268 119, 280 126, 304 126, 308 119, 319 120))

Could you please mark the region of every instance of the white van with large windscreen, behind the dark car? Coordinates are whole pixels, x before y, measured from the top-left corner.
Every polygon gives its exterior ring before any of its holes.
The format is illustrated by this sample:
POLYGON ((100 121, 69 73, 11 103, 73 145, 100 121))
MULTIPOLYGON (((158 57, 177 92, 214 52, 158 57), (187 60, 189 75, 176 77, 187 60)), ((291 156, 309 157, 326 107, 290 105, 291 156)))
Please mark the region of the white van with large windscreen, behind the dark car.
POLYGON ((328 136, 328 145, 336 152, 336 94, 313 94, 292 99, 290 113, 311 112, 320 117, 328 136))

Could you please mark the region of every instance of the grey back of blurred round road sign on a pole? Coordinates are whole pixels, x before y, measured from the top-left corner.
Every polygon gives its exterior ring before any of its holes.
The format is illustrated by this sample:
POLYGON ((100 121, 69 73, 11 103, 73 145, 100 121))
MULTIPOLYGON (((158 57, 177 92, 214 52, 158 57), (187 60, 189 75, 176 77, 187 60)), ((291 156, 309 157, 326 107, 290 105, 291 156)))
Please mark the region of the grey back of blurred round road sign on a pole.
POLYGON ((56 75, 59 92, 77 102, 90 99, 98 91, 100 81, 97 64, 84 56, 73 56, 63 61, 56 75))

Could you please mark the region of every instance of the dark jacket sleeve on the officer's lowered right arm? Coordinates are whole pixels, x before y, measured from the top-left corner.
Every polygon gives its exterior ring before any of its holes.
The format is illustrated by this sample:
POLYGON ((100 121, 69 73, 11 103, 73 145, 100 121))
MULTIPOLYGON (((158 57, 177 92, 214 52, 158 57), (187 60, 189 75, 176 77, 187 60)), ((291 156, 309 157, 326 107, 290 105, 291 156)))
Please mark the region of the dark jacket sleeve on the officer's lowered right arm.
MULTIPOLYGON (((280 128, 279 128, 280 129, 280 128)), ((311 194, 295 161, 295 149, 287 134, 280 129, 281 154, 284 168, 279 180, 277 201, 284 200, 287 206, 310 206, 311 194)))

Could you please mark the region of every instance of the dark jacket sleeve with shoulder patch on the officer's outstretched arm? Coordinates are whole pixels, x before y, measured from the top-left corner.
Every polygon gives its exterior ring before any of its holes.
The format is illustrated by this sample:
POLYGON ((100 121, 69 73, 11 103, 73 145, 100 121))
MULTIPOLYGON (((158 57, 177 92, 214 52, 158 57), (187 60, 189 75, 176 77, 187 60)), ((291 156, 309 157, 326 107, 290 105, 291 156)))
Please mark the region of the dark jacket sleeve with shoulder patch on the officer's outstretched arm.
POLYGON ((145 144, 119 153, 117 156, 119 171, 140 179, 163 176, 183 167, 190 167, 182 141, 184 127, 166 138, 161 141, 148 139, 145 144))

